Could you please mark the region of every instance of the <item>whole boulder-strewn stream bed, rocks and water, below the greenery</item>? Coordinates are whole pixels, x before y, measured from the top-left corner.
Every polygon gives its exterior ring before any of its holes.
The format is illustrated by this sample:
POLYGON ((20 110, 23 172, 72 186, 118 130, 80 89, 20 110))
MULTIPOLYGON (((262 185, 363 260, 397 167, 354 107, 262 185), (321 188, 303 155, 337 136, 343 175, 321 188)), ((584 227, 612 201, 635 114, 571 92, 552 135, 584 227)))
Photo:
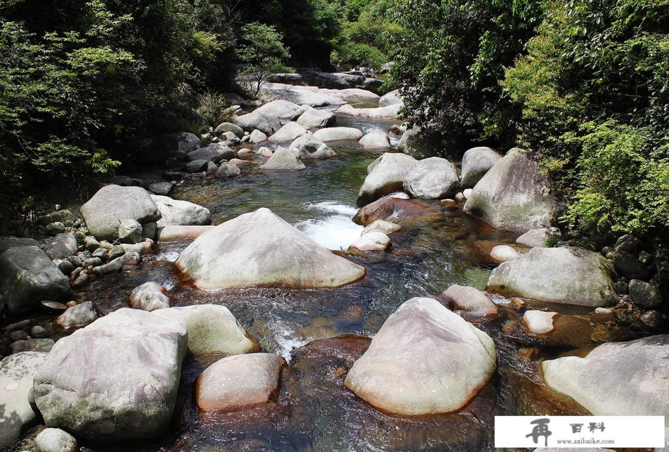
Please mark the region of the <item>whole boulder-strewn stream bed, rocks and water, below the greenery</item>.
POLYGON ((422 158, 360 91, 270 84, 0 238, 0 446, 492 450, 500 413, 668 415, 662 256, 561 233, 520 149, 422 158))

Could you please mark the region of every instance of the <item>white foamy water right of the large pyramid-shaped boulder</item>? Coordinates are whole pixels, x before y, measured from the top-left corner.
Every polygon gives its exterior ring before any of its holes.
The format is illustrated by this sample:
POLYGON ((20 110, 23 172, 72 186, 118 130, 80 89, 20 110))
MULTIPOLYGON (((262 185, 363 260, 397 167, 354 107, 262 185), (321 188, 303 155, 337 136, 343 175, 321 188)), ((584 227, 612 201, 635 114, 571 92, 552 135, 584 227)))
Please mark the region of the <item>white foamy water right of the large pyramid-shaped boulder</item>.
POLYGON ((318 218, 300 221, 295 226, 306 235, 329 249, 347 249, 363 231, 361 225, 351 221, 358 211, 355 207, 336 201, 305 205, 307 210, 324 213, 318 218))

